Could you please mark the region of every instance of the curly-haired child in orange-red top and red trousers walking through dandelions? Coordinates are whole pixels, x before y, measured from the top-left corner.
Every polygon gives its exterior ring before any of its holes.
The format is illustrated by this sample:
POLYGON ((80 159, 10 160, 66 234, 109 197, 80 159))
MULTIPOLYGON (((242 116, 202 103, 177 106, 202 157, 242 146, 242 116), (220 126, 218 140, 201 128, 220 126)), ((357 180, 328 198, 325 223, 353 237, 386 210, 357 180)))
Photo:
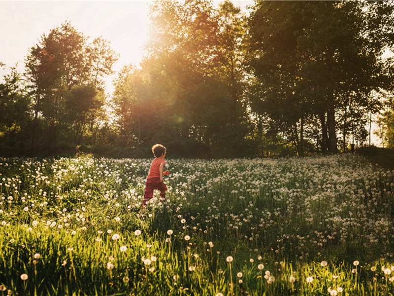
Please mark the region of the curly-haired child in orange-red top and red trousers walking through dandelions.
POLYGON ((167 191, 167 186, 164 184, 163 175, 169 174, 169 171, 163 172, 166 151, 167 149, 160 144, 156 144, 152 147, 152 152, 156 158, 152 161, 148 177, 146 178, 145 193, 141 208, 144 208, 146 203, 153 197, 154 189, 160 190, 160 198, 162 200, 165 199, 165 191, 167 191))

